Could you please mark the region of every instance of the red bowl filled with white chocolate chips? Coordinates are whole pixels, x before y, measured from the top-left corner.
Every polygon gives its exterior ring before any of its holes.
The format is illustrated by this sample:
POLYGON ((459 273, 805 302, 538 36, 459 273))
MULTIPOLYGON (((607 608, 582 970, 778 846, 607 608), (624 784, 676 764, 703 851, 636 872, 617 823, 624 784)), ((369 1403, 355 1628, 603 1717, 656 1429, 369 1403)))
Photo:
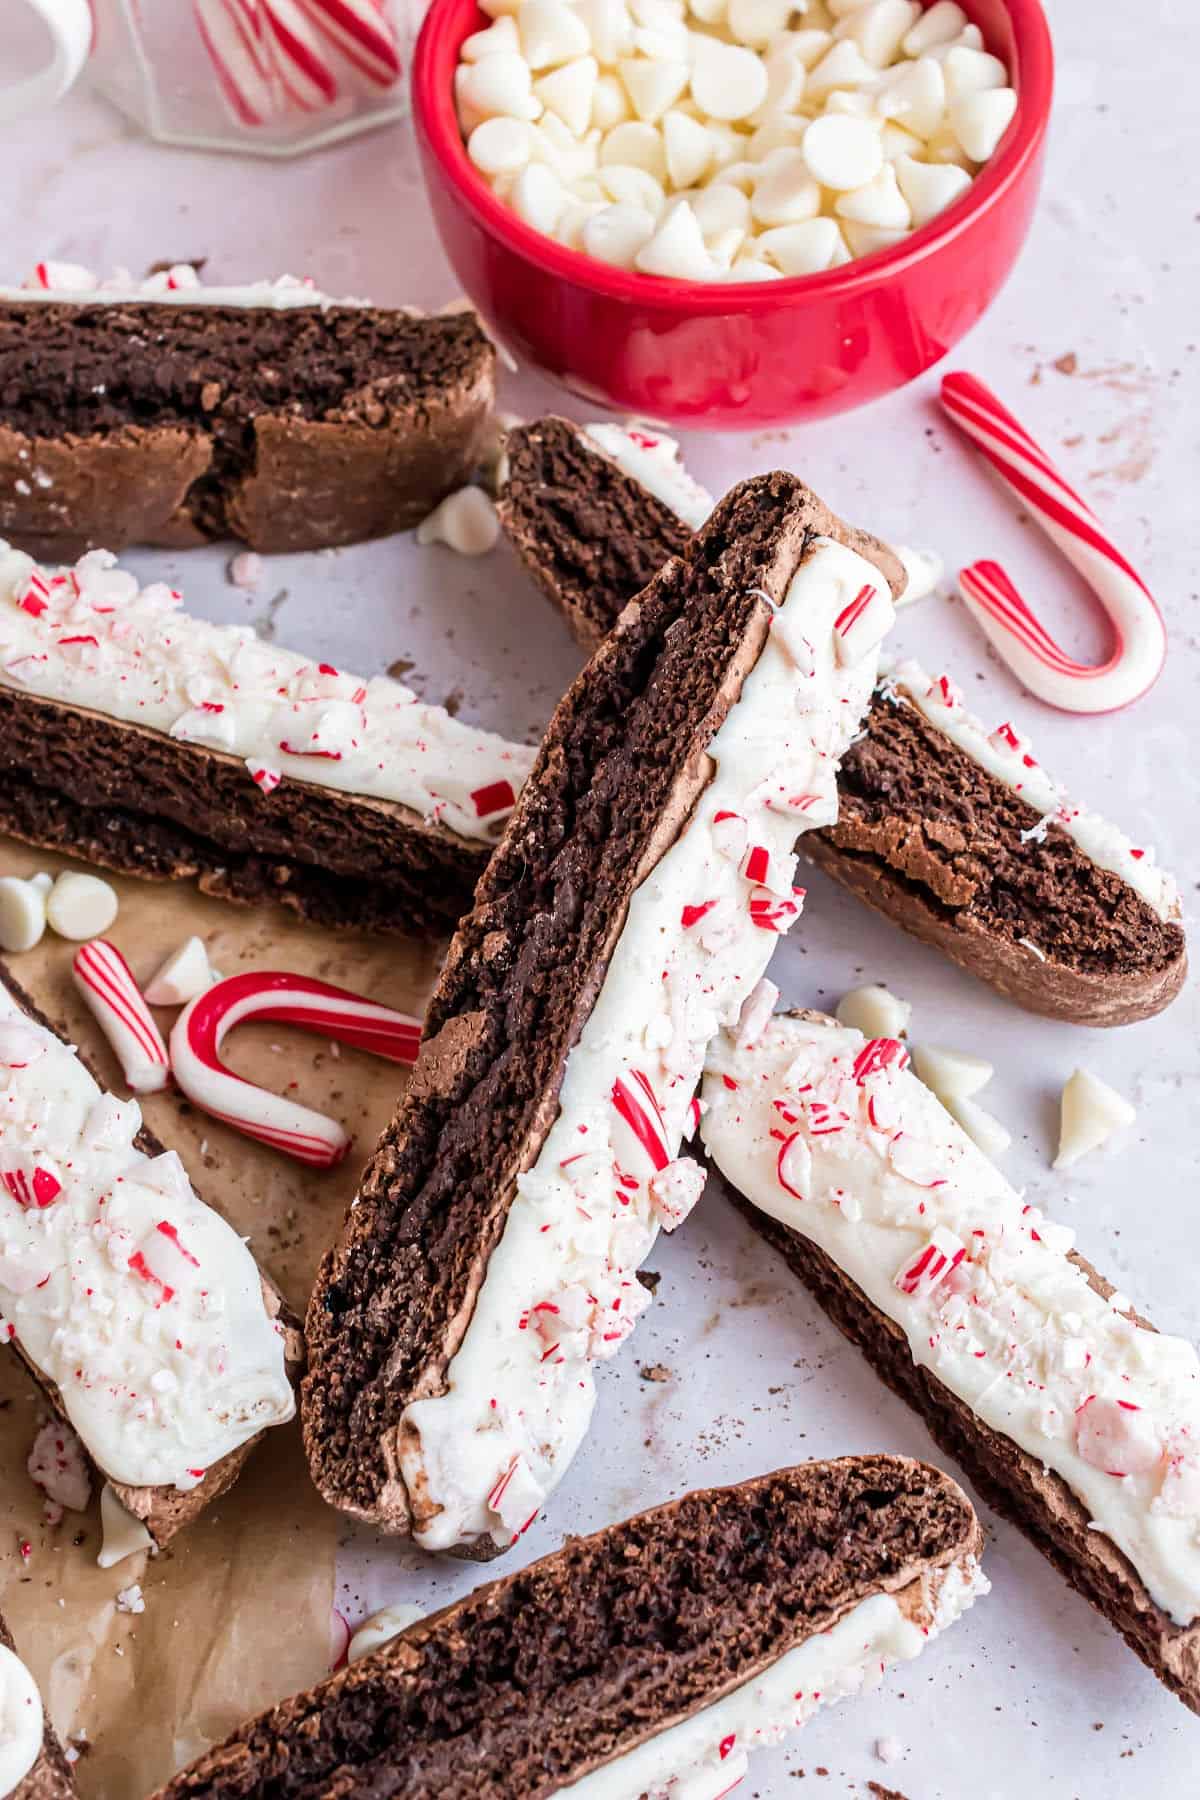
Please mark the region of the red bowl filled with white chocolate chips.
POLYGON ((434 0, 414 117, 504 346, 664 423, 797 423, 943 356, 1007 277, 1040 0, 434 0))

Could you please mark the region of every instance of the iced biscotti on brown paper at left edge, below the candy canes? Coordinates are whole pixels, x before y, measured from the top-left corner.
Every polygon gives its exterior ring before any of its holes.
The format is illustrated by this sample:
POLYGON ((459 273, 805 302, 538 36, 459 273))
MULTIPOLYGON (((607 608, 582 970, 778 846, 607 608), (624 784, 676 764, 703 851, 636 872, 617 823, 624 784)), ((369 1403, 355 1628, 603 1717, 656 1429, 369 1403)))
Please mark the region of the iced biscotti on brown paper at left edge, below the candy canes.
POLYGON ((178 1156, 0 968, 0 1337, 169 1543, 295 1413, 304 1346, 178 1156))

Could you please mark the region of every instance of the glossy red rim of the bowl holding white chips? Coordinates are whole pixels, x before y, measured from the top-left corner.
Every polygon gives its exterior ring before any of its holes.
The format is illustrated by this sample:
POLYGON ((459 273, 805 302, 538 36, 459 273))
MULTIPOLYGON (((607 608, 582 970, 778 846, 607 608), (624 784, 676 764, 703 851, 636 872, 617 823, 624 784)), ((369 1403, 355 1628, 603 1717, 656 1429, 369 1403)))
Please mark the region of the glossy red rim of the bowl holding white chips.
POLYGON ((1020 182, 1045 137, 1054 94, 1054 47, 1042 0, 1002 0, 1018 52, 1016 112, 1000 148, 975 176, 968 193, 937 218, 921 225, 903 245, 873 250, 819 275, 783 275, 779 281, 678 281, 613 268, 581 250, 569 250, 554 238, 527 225, 498 200, 466 155, 453 106, 453 67, 471 29, 468 0, 432 0, 412 59, 412 112, 459 200, 475 221, 500 238, 527 263, 547 275, 590 288, 613 301, 642 302, 676 313, 774 311, 797 295, 833 299, 853 295, 892 275, 903 277, 914 263, 952 245, 979 218, 1000 205, 1020 182), (470 29, 468 29, 470 27, 470 29))

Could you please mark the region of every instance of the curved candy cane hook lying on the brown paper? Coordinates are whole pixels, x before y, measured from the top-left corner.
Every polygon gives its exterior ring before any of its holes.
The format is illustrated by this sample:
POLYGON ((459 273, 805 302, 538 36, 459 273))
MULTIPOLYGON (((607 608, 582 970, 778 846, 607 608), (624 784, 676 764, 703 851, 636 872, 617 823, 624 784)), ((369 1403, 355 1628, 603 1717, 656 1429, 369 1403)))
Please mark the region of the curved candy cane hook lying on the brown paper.
POLYGON ((246 1138, 297 1163, 333 1168, 351 1147, 336 1120, 245 1082, 221 1062, 227 1033, 243 1019, 272 1019, 369 1049, 387 1062, 417 1060, 421 1022, 311 976, 277 970, 228 976, 191 1001, 171 1030, 171 1067, 187 1098, 246 1138))

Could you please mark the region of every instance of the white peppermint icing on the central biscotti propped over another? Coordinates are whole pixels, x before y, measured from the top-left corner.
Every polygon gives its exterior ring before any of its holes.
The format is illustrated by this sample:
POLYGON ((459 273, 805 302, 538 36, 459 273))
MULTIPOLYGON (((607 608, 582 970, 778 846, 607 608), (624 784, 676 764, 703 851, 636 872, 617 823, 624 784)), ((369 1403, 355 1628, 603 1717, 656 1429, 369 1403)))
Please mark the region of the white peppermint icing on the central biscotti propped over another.
POLYGON ((763 1013, 756 986, 799 914, 792 846, 837 815, 838 760, 892 616, 869 562, 815 540, 709 745, 711 785, 633 895, 448 1391, 401 1420, 416 1535, 430 1550, 484 1535, 507 1544, 529 1525, 587 1431, 594 1361, 649 1305, 635 1271, 703 1184, 678 1147, 705 1046, 752 995, 763 1013))

